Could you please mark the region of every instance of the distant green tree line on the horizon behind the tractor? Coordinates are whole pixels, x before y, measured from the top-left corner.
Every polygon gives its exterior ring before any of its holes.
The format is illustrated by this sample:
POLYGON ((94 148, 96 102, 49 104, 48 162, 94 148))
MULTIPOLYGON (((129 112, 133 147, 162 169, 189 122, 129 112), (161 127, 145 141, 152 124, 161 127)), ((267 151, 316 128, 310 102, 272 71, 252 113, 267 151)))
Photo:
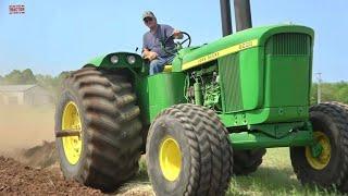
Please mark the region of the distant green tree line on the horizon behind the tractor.
MULTIPOLYGON (((23 71, 13 70, 11 73, 1 76, 0 85, 23 85, 37 84, 46 88, 54 101, 57 101, 61 82, 69 75, 69 72, 62 72, 57 76, 34 74, 30 69, 23 71)), ((318 84, 313 83, 311 88, 311 103, 316 103, 318 100, 318 84)), ((322 83, 321 84, 321 100, 324 101, 340 101, 348 103, 348 82, 338 83, 322 83)))

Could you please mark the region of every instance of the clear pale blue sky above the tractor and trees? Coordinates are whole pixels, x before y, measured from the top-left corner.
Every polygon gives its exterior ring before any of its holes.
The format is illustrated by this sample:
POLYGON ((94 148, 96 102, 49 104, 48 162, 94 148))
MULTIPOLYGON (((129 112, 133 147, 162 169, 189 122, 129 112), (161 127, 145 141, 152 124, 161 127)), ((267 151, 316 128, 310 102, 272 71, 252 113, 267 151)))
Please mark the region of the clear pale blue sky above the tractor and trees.
MULTIPOLYGON (((147 30, 145 10, 152 10, 160 23, 188 32, 194 45, 210 42, 222 35, 219 3, 0 0, 0 75, 26 68, 57 75, 98 54, 135 51, 147 30), (26 13, 9 14, 10 4, 25 4, 26 13)), ((347 8, 347 0, 251 0, 253 26, 291 22, 314 28, 313 72, 322 72, 325 82, 348 81, 347 8)))

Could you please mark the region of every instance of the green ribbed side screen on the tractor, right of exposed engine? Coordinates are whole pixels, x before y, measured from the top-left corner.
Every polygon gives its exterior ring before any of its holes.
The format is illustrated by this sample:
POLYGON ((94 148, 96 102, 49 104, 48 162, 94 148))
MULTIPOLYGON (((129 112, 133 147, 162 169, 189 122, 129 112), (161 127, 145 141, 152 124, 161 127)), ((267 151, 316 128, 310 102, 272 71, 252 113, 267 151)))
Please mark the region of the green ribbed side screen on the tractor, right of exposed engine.
POLYGON ((243 109, 239 54, 229 54, 219 59, 220 82, 222 86, 223 110, 225 112, 243 109))

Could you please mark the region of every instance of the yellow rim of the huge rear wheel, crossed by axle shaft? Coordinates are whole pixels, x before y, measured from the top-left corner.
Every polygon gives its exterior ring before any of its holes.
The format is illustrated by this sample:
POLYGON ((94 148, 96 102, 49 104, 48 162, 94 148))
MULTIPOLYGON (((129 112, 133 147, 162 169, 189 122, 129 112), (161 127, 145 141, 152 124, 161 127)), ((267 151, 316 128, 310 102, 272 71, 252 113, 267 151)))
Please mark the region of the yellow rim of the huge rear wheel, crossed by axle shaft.
MULTIPOLYGON (((70 101, 65 105, 62 115, 62 131, 82 132, 82 122, 75 102, 70 101)), ((83 148, 82 138, 78 136, 63 137, 63 148, 65 157, 71 164, 76 164, 83 148)))

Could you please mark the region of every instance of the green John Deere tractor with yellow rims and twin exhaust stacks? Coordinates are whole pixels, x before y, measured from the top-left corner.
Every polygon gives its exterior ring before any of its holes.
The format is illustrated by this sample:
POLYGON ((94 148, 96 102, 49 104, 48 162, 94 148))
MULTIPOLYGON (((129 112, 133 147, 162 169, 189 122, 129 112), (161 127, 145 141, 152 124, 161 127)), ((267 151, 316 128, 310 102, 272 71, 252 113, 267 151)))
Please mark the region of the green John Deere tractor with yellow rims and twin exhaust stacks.
POLYGON ((224 195, 266 148, 289 147, 301 183, 348 192, 348 107, 310 107, 313 30, 251 28, 249 1, 235 0, 229 35, 229 1, 221 3, 224 37, 178 44, 163 73, 149 75, 137 53, 113 52, 70 74, 55 113, 66 179, 111 192, 146 154, 158 195, 224 195))

